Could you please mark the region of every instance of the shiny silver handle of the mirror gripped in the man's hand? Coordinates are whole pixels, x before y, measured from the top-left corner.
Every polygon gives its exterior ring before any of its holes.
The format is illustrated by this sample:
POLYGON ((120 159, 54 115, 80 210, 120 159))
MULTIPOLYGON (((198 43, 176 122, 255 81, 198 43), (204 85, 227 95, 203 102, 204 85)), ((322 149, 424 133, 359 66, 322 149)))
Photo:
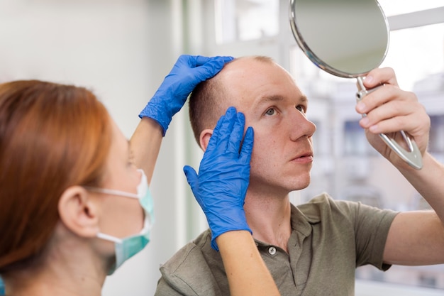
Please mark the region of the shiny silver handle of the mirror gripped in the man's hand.
MULTIPOLYGON (((379 87, 383 86, 384 84, 379 85, 379 87)), ((359 102, 363 97, 365 97, 367 94, 370 94, 370 92, 374 92, 374 90, 378 89, 379 87, 374 87, 373 89, 365 89, 364 83, 362 82, 362 77, 357 77, 358 92, 356 93, 356 101, 359 102)), ((365 116, 367 116, 367 114, 362 114, 362 117, 365 116)), ((408 163, 412 168, 420 170, 423 167, 423 158, 421 156, 421 151, 419 150, 415 141, 411 139, 409 135, 405 133, 405 131, 399 131, 399 133, 401 133, 402 138, 404 138, 404 141, 406 142, 409 150, 401 147, 399 143, 394 140, 394 138, 390 138, 385 133, 379 133, 379 136, 387 144, 387 146, 389 146, 389 148, 391 148, 397 155, 399 155, 402 160, 408 163)))

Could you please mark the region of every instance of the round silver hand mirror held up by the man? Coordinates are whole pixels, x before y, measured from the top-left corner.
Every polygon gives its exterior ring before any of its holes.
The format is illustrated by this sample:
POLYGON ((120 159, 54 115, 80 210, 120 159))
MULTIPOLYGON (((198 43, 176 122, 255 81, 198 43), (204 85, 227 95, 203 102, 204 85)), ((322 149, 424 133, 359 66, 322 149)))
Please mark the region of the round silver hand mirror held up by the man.
MULTIPOLYGON (((377 89, 363 84, 389 48, 387 18, 376 0, 290 0, 290 26, 296 43, 316 66, 357 79, 357 101, 377 89)), ((379 136, 406 163, 421 169, 418 146, 404 131, 399 133, 409 150, 384 133, 379 136)))

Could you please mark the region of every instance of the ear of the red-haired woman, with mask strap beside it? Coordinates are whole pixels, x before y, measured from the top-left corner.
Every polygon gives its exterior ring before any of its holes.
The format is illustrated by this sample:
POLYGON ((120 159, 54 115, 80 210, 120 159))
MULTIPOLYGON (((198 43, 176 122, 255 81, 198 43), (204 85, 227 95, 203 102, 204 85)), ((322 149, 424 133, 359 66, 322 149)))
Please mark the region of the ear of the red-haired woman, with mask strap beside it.
POLYGON ((62 223, 78 236, 94 237, 99 232, 99 207, 84 187, 68 187, 58 209, 62 223))

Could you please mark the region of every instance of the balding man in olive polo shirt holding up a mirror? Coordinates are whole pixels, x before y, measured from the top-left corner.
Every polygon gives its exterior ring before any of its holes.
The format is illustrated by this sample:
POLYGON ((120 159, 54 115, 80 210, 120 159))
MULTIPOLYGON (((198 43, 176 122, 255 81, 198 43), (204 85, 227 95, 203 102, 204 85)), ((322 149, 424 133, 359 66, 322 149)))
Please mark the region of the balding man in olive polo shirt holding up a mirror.
MULTIPOLYGON (((216 121, 229 106, 254 129, 245 215, 257 248, 281 295, 354 295, 355 268, 372 264, 444 263, 444 168, 426 152, 430 119, 389 68, 372 70, 365 86, 384 83, 356 109, 372 146, 427 199, 435 211, 396 213, 327 194, 294 207, 289 192, 309 185, 312 136, 308 99, 267 57, 241 57, 199 84, 190 98, 196 141, 206 150, 216 121), (404 130, 418 144, 422 170, 401 160, 378 133, 404 130)), ((221 256, 204 231, 162 265, 156 295, 229 295, 221 256)))

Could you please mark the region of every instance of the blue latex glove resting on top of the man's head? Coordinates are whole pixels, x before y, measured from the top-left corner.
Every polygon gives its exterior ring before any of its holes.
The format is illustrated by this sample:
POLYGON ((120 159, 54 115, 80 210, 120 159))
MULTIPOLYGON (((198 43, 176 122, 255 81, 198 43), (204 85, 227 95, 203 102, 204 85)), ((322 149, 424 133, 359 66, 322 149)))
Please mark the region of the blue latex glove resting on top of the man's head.
POLYGON ((182 108, 196 85, 216 75, 231 60, 233 57, 181 55, 139 117, 157 121, 165 136, 172 116, 182 108))

